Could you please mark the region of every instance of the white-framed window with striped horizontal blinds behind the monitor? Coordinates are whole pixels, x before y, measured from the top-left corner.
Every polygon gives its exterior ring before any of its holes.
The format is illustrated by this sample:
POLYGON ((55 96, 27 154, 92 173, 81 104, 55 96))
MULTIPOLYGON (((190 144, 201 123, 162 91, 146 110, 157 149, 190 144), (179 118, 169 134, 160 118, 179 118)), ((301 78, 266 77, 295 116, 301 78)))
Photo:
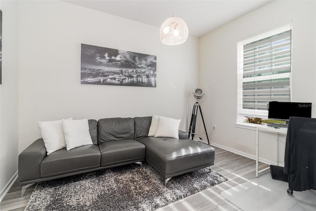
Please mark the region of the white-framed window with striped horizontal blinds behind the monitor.
POLYGON ((291 100, 291 26, 237 43, 237 122, 268 118, 269 101, 291 100))

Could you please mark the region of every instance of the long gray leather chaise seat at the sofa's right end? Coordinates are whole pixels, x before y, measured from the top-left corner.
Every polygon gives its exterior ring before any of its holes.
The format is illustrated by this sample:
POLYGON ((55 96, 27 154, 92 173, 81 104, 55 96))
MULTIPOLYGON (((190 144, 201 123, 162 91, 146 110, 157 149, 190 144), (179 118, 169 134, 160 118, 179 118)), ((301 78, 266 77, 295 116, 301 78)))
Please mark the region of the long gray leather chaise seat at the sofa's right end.
POLYGON ((145 137, 137 141, 146 146, 146 161, 164 178, 214 165, 214 148, 194 140, 145 137))

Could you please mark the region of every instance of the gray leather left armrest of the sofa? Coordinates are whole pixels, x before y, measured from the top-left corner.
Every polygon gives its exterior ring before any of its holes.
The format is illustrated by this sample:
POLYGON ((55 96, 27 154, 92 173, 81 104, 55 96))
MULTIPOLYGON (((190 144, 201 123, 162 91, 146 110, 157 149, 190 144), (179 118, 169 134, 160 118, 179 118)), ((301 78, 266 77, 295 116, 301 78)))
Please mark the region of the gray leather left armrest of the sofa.
POLYGON ((46 156, 46 148, 42 138, 34 141, 19 155, 19 181, 40 178, 40 163, 46 156))

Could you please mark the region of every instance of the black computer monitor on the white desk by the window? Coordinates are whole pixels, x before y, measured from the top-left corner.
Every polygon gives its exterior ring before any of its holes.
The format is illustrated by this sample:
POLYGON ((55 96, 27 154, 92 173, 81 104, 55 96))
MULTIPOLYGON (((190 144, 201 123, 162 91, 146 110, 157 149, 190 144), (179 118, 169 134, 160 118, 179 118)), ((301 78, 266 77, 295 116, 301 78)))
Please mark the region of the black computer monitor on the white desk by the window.
POLYGON ((289 120, 290 117, 312 117, 312 103, 269 102, 268 119, 289 120))

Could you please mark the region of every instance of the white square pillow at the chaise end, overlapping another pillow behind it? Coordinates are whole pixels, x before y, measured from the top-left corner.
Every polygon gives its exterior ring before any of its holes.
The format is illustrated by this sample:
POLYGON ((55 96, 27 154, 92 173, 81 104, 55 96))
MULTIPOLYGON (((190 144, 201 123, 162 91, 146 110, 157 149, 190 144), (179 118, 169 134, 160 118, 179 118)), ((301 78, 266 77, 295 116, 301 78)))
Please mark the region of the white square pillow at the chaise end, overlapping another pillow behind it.
POLYGON ((170 137, 179 139, 179 127, 181 120, 167 117, 158 118, 158 127, 155 137, 170 137))

